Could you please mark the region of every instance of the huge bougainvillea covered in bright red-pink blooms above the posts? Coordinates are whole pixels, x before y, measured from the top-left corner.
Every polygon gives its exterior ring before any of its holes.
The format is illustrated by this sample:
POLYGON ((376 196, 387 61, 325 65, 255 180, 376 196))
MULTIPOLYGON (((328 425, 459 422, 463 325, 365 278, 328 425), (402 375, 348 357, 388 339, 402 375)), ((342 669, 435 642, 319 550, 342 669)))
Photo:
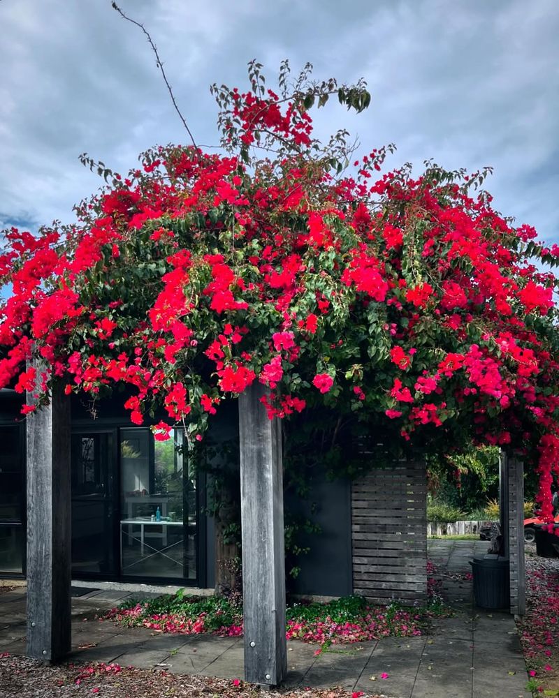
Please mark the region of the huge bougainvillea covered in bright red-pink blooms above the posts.
POLYGON ((0 386, 125 385, 135 424, 163 408, 157 438, 174 422, 201 438, 260 381, 270 417, 321 403, 404 444, 521 450, 550 517, 559 247, 493 209, 486 172, 379 175, 386 149, 351 165, 343 132, 322 146, 312 106, 363 110, 362 83, 291 84, 283 64, 275 94, 259 68, 245 93, 214 88, 223 154, 157 147, 128 177, 99 165, 110 185, 75 225, 6 232, 0 386))

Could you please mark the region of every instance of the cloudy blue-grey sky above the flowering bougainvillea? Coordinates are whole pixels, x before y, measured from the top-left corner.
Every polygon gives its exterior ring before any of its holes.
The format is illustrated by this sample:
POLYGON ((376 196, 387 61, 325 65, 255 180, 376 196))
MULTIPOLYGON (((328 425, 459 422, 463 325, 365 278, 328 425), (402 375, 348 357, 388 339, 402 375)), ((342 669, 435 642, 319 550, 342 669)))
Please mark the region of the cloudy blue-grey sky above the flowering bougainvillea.
MULTIPOLYGON (((493 165, 504 214, 559 242, 558 0, 120 0, 144 22, 196 140, 217 144, 212 82, 243 87, 246 64, 314 64, 365 77, 369 110, 337 105, 389 161, 493 165)), ((98 186, 87 151, 126 172, 150 145, 187 142, 150 47, 110 0, 0 0, 0 228, 72 220, 98 186)), ((270 80, 268 80, 270 82, 270 80)))

